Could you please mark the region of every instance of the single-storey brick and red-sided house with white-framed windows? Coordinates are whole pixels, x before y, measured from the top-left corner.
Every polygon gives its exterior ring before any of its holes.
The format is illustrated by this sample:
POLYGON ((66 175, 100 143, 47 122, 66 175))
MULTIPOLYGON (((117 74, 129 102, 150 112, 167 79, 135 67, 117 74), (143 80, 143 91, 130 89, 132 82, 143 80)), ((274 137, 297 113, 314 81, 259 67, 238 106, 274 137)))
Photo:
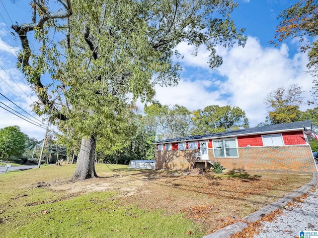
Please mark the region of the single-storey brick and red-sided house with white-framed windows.
MULTIPOLYGON (((311 120, 157 141, 156 169, 219 161, 227 170, 316 172, 307 136, 311 120)), ((201 167, 202 168, 202 167, 201 167)))

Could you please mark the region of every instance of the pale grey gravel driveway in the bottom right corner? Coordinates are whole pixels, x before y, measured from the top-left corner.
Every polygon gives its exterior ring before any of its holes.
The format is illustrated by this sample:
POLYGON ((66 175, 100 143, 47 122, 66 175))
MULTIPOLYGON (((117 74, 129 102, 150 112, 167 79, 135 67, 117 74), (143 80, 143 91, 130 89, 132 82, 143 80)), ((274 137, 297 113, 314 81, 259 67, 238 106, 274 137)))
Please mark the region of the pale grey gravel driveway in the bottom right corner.
POLYGON ((299 237, 299 231, 318 231, 318 185, 315 189, 307 192, 304 203, 286 207, 273 222, 262 222, 264 226, 253 238, 294 238, 299 237))

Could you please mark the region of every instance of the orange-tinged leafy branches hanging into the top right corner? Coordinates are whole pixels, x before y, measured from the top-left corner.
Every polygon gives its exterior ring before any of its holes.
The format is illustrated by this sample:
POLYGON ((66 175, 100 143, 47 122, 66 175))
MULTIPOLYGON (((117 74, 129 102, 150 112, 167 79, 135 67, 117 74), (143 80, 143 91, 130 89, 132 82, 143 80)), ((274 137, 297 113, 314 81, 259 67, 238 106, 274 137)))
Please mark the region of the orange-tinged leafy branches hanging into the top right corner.
MULTIPOLYGON (((287 38, 299 38, 302 52, 308 52, 309 72, 317 77, 318 72, 318 3, 316 0, 299 0, 297 3, 282 11, 282 19, 277 26, 275 41, 276 46, 287 38)), ((317 99, 318 81, 313 81, 313 95, 317 99)))

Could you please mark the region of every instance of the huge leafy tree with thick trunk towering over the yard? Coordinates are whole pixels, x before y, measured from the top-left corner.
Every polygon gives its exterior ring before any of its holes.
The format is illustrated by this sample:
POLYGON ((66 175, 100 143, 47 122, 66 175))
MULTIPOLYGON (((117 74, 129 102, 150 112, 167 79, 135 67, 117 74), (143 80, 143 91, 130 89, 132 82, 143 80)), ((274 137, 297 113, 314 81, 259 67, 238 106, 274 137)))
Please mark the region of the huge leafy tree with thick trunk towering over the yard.
POLYGON ((204 45, 215 68, 222 64, 217 46, 246 40, 231 19, 232 0, 32 0, 31 6, 30 23, 12 26, 23 48, 18 67, 38 96, 34 111, 81 137, 73 179, 97 176, 96 139, 123 133, 134 101, 151 101, 157 83, 177 84, 180 42, 193 45, 194 55, 204 45), (30 48, 31 31, 38 52, 30 48))

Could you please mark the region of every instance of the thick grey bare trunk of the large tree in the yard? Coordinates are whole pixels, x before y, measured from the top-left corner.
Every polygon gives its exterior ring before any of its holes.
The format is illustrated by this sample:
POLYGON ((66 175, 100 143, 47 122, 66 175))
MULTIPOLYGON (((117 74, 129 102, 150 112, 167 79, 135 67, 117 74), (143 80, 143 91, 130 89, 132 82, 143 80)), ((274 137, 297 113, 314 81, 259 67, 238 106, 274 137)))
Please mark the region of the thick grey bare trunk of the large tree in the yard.
POLYGON ((95 172, 96 138, 92 134, 90 138, 82 137, 78 156, 78 165, 71 180, 83 180, 98 177, 95 172))

